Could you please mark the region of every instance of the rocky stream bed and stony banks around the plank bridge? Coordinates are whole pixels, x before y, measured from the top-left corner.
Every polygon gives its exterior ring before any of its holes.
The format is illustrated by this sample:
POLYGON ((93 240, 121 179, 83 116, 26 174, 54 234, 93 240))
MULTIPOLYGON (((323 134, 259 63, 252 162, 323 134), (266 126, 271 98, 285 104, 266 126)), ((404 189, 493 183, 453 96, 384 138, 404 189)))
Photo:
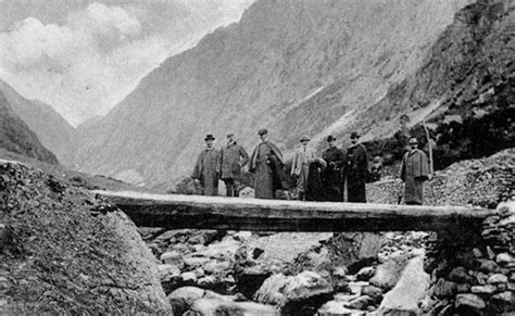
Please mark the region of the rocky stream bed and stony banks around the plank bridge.
MULTIPOLYGON (((515 208, 500 203, 514 153, 436 175, 428 204, 498 207, 438 235, 136 228, 87 190, 1 162, 0 314, 510 315, 515 208)), ((399 185, 368 185, 368 201, 397 203, 399 185)))

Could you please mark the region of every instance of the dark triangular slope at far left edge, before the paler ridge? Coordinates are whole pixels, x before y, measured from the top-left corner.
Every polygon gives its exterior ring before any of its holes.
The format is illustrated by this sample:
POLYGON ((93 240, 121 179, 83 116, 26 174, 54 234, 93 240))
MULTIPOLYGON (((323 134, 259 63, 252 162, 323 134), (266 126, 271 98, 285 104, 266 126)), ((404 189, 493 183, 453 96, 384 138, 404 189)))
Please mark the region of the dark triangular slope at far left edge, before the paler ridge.
POLYGON ((58 159, 39 142, 36 134, 14 113, 2 91, 0 91, 0 148, 50 164, 58 164, 58 159))

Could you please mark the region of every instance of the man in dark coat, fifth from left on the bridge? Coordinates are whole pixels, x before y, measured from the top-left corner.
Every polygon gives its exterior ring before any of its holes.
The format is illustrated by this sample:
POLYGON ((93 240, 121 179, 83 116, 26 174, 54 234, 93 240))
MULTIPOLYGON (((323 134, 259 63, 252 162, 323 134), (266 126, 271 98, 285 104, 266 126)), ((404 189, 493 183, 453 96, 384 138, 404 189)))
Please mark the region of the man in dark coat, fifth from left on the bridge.
POLYGON ((336 137, 327 137, 329 148, 322 153, 322 157, 327 164, 323 174, 324 190, 327 201, 343 202, 341 169, 346 157, 343 152, 336 147, 336 137))

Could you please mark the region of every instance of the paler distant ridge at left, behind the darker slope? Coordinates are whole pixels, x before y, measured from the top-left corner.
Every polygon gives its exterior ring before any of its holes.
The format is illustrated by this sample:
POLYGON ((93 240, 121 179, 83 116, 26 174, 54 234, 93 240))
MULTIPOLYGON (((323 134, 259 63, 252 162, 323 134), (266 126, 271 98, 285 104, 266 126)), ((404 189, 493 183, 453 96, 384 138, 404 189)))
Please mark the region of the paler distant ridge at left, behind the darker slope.
POLYGON ((58 156, 60 163, 70 165, 76 139, 75 129, 50 105, 25 99, 2 80, 0 91, 41 143, 58 156))

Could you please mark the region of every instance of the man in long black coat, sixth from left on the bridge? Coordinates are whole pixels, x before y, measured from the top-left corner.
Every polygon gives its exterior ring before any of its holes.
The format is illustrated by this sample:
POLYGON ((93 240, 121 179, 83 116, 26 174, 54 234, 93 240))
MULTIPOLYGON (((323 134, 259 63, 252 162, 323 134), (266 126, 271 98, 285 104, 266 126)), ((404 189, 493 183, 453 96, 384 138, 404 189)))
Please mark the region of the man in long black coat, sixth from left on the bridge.
POLYGON ((344 179, 347 181, 347 201, 365 203, 368 154, 366 148, 360 143, 360 135, 355 131, 351 134, 351 143, 352 146, 346 151, 344 179))

